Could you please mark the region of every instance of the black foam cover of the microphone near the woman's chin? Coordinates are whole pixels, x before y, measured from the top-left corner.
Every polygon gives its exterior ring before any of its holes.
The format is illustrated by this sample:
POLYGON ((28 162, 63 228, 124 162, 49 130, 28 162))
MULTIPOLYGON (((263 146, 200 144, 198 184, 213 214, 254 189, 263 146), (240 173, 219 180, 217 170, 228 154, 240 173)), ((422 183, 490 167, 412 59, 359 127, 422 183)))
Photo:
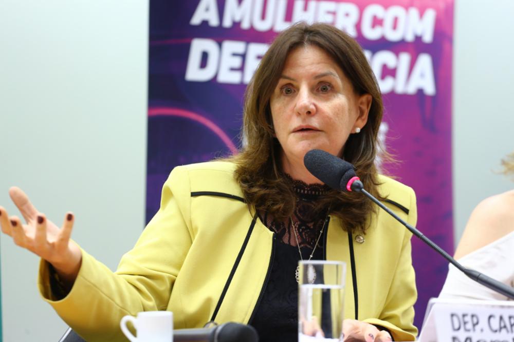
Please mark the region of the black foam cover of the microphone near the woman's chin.
POLYGON ((356 176, 352 164, 322 150, 305 153, 303 164, 321 182, 336 190, 347 191, 346 184, 356 176))

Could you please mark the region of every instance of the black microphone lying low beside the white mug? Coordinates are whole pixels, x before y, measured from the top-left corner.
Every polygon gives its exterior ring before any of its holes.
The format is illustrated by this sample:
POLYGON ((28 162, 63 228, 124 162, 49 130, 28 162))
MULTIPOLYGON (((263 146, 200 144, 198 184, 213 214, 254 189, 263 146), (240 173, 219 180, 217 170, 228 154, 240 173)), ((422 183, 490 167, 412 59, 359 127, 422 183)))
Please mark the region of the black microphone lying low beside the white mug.
POLYGON ((187 342, 259 342, 259 335, 252 326, 240 323, 224 323, 212 328, 177 329, 173 340, 187 342))

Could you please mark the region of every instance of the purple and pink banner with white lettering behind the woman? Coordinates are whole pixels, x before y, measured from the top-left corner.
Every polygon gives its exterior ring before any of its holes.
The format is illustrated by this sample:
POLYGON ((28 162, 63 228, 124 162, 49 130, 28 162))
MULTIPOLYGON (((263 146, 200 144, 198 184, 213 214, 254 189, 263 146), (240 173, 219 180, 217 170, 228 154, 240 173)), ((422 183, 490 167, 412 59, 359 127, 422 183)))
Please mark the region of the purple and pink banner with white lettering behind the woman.
MULTIPOLYGON (((150 3, 146 220, 176 165, 237 151, 243 92, 269 43, 291 23, 325 22, 357 39, 384 98, 380 138, 414 188, 417 228, 453 251, 451 74, 453 0, 196 0, 150 3)), ((416 325, 446 261, 413 238, 416 325)))

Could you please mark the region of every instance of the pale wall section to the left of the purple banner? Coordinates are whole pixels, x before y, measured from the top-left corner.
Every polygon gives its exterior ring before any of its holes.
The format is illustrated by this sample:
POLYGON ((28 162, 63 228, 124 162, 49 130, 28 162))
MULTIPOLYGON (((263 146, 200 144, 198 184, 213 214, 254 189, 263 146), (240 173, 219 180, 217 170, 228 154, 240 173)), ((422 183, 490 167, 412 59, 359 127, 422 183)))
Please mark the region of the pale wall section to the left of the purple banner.
MULTIPOLYGON (((148 1, 0 2, 0 205, 25 189, 115 269, 144 225, 148 1)), ((39 259, 1 238, 3 337, 57 341, 39 259)))

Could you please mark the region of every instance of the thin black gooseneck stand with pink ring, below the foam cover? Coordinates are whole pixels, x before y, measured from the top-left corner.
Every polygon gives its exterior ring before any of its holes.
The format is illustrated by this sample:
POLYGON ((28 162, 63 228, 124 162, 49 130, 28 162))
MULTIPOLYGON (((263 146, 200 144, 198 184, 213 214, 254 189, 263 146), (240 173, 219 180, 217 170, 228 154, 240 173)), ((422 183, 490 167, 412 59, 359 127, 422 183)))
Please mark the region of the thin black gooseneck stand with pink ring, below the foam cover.
MULTIPOLYGON (((370 194, 368 191, 364 189, 364 186, 362 182, 356 177, 352 178, 350 182, 352 182, 350 185, 350 189, 355 192, 361 192, 366 197, 371 199, 377 206, 385 210, 389 215, 393 216, 399 223, 401 223, 405 228, 410 230, 412 234, 416 235, 418 238, 420 238, 425 244, 430 246, 433 250, 435 250, 437 253, 442 255, 445 259, 447 259, 450 264, 455 266, 457 269, 459 269, 461 272, 466 274, 469 278, 473 279, 479 284, 484 285, 485 287, 503 294, 504 296, 514 299, 514 289, 510 286, 507 286, 500 281, 493 279, 491 277, 488 277, 487 275, 480 273, 479 271, 472 270, 470 268, 466 268, 458 263, 457 260, 455 260, 450 254, 448 254, 445 250, 437 246, 435 243, 432 242, 428 237, 423 235, 419 230, 417 230, 415 227, 412 227, 407 222, 402 220, 398 215, 396 215, 392 210, 390 210, 388 207, 386 207, 382 202, 380 202, 378 199, 375 198, 372 194, 370 194)), ((348 189, 348 188, 347 188, 348 189)), ((348 190, 350 190, 348 189, 348 190)))

